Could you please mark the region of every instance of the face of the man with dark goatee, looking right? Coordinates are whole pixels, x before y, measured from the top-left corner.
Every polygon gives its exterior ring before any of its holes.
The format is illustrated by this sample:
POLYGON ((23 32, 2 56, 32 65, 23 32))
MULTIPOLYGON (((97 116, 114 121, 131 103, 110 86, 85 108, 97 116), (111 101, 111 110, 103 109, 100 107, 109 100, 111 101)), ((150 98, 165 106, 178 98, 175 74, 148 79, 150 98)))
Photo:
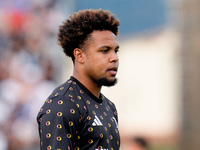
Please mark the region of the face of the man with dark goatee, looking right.
POLYGON ((85 73, 99 86, 114 85, 119 65, 119 45, 115 34, 111 31, 93 31, 86 48, 85 73))

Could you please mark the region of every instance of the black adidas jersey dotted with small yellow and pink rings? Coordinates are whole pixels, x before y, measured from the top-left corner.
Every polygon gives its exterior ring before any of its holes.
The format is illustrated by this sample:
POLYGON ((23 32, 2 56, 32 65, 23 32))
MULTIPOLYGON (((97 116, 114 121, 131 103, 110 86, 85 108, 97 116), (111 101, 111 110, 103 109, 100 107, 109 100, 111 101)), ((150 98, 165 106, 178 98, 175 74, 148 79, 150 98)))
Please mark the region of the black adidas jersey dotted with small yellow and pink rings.
POLYGON ((105 96, 74 77, 57 87, 37 116, 41 150, 119 150, 118 117, 105 96))

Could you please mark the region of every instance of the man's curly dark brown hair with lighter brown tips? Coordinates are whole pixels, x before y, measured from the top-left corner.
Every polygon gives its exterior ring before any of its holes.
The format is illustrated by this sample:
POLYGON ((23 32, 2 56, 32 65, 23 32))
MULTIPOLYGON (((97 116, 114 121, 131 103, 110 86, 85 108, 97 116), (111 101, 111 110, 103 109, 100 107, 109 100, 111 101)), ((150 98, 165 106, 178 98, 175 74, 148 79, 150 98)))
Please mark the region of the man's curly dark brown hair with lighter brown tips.
POLYGON ((119 25, 119 19, 108 10, 80 10, 71 15, 59 27, 58 44, 62 46, 64 53, 74 61, 74 49, 81 48, 94 30, 109 30, 117 36, 119 25))

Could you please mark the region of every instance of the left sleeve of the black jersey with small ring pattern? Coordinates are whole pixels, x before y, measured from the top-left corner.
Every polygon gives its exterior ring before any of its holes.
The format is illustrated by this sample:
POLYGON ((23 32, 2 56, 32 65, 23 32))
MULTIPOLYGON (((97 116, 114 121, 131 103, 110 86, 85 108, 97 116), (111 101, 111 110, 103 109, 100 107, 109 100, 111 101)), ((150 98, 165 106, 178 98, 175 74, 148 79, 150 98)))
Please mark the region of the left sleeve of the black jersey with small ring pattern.
POLYGON ((38 114, 41 150, 74 149, 80 122, 79 108, 71 98, 47 99, 38 114))

